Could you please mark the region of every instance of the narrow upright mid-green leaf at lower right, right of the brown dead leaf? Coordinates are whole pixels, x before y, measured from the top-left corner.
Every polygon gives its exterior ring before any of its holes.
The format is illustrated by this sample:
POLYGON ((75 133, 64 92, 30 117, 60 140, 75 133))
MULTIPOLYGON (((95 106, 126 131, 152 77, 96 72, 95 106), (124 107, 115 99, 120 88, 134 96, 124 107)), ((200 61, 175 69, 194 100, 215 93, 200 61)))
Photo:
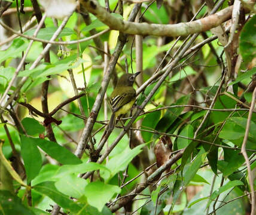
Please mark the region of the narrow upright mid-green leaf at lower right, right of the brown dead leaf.
POLYGON ((197 154, 194 161, 189 164, 186 164, 183 170, 183 177, 184 177, 184 185, 188 185, 193 177, 196 175, 197 170, 199 170, 203 159, 205 158, 205 149, 201 149, 200 152, 197 154))

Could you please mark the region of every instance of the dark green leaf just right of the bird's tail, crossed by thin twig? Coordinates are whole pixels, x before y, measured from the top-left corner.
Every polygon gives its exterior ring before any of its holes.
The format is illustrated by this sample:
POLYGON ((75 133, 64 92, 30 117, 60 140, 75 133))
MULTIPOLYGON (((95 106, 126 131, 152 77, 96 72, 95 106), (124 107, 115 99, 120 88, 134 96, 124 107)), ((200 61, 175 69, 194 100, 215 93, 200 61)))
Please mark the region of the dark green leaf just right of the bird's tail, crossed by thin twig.
MULTIPOLYGON (((160 119, 160 116, 161 116, 160 111, 154 111, 152 113, 148 113, 147 116, 142 121, 142 128, 147 130, 150 130, 150 128, 152 128, 154 130, 154 128, 157 125, 157 122, 160 119)), ((141 131, 141 135, 145 140, 145 142, 149 142, 151 140, 151 137, 153 136, 153 133, 141 131)))

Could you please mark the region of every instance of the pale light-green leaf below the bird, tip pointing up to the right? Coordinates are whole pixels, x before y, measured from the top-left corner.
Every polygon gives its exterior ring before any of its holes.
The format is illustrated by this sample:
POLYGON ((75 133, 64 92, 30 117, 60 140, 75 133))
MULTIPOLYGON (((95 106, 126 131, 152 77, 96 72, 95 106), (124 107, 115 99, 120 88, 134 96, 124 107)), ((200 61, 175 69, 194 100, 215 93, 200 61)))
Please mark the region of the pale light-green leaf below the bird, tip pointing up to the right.
MULTIPOLYGON (((132 161, 132 159, 142 151, 141 148, 144 146, 145 144, 142 144, 136 146, 133 149, 130 149, 130 147, 127 146, 127 148, 122 153, 119 153, 118 155, 110 158, 106 163, 106 167, 111 171, 111 177, 117 174, 119 171, 123 171, 129 162, 132 161)), ((107 180, 105 177, 104 179, 107 180)))

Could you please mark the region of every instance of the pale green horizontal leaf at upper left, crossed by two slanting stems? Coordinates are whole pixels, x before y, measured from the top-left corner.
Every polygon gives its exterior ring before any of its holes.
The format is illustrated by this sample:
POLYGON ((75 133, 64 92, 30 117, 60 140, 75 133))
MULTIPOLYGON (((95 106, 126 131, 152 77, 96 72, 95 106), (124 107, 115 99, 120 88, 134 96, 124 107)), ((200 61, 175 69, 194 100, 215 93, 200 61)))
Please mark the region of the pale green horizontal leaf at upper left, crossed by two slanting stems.
MULTIPOLYGON (((39 39, 46 39, 50 40, 53 34, 56 32, 57 27, 51 26, 51 27, 45 27, 39 30, 38 35, 36 36, 39 39)), ((32 36, 35 32, 35 29, 28 30, 28 32, 25 33, 25 35, 32 36)), ((75 34, 74 30, 69 29, 68 27, 65 27, 62 32, 60 32, 58 38, 61 38, 62 36, 70 36, 72 34, 75 34)))

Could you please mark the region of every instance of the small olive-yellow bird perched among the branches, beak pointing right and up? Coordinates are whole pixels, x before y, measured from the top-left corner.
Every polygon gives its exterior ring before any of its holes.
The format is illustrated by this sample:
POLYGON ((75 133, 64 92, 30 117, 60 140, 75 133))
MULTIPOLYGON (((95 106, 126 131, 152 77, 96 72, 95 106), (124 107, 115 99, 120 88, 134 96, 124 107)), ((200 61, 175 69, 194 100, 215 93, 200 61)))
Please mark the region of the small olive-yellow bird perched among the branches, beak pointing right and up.
POLYGON ((122 75, 112 91, 108 104, 112 110, 112 115, 109 120, 108 130, 112 131, 115 127, 115 119, 132 109, 136 100, 136 91, 133 88, 136 76, 141 72, 125 73, 122 75))

